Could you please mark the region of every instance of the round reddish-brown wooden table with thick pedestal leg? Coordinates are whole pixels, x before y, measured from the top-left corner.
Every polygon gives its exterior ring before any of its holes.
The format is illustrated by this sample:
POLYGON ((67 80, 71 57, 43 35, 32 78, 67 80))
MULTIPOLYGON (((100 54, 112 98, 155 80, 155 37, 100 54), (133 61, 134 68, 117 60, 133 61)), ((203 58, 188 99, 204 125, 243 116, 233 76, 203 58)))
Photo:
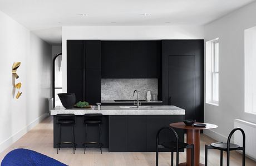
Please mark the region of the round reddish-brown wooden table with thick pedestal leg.
MULTIPOLYGON (((170 127, 186 129, 186 143, 194 144, 194 166, 204 165, 200 163, 200 130, 218 127, 210 123, 204 124, 206 124, 205 127, 186 126, 183 122, 170 124, 170 127)), ((180 163, 179 165, 191 165, 191 149, 186 149, 186 163, 180 163)))

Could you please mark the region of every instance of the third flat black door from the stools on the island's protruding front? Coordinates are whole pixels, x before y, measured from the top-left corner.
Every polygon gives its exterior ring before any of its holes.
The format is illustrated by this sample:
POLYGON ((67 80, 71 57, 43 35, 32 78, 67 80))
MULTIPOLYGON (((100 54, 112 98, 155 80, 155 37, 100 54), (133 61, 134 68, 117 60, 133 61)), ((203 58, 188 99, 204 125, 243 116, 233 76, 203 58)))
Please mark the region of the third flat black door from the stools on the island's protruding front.
MULTIPOLYGON (((165 115, 147 116, 147 151, 156 151, 156 134, 160 128, 165 127, 165 115)), ((165 133, 161 133, 159 142, 165 141, 165 133)))

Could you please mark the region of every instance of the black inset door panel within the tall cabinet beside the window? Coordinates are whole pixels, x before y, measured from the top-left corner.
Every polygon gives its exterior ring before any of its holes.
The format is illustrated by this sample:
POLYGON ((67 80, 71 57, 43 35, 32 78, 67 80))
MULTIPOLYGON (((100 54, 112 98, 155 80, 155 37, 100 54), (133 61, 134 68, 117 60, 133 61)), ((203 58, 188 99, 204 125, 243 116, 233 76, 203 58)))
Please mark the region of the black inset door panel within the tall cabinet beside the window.
POLYGON ((195 119, 195 56, 169 56, 170 105, 185 109, 187 120, 195 119))

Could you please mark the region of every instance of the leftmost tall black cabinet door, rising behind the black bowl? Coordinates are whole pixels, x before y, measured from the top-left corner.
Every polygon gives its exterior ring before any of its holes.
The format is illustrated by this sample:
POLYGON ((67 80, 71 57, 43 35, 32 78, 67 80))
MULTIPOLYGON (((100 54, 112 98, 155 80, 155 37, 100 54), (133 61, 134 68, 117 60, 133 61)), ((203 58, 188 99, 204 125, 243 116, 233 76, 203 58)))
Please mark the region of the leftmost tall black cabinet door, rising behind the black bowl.
POLYGON ((83 41, 67 40, 67 92, 75 93, 76 101, 85 99, 83 61, 83 41))

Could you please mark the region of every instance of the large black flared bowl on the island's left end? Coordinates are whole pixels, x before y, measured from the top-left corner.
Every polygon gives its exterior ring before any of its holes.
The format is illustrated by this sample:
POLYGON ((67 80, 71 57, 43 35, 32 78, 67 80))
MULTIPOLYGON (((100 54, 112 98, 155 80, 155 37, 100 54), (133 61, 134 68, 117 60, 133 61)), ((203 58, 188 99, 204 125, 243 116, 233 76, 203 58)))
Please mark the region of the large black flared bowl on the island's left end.
POLYGON ((73 106, 76 103, 76 95, 75 94, 62 93, 62 94, 58 94, 58 97, 60 97, 63 107, 65 107, 67 109, 73 108, 73 106))

